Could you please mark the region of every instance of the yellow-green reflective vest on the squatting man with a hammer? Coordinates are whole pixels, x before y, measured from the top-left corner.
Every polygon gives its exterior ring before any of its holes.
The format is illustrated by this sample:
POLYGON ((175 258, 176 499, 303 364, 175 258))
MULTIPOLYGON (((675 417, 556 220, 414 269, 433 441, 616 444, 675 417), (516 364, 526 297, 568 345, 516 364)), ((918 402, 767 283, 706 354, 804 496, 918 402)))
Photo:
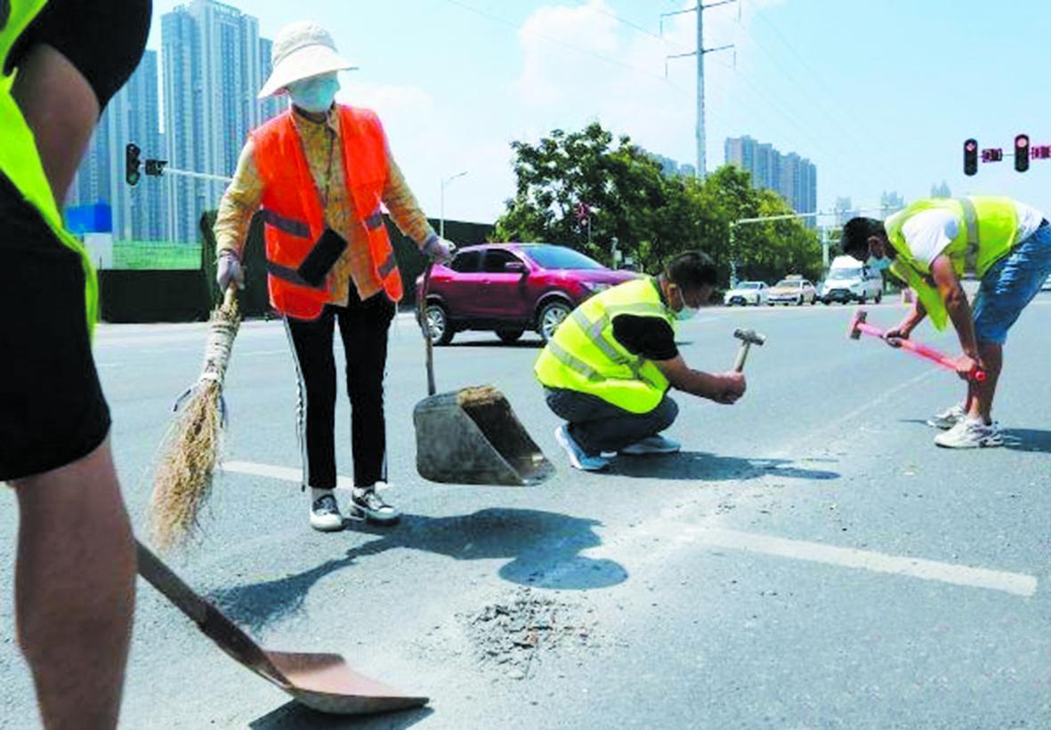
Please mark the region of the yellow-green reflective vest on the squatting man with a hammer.
POLYGON ((673 328, 675 315, 660 298, 657 280, 625 281, 596 294, 558 326, 533 367, 548 388, 590 393, 631 413, 648 413, 668 389, 660 369, 630 353, 613 336, 618 314, 663 319, 673 328))

